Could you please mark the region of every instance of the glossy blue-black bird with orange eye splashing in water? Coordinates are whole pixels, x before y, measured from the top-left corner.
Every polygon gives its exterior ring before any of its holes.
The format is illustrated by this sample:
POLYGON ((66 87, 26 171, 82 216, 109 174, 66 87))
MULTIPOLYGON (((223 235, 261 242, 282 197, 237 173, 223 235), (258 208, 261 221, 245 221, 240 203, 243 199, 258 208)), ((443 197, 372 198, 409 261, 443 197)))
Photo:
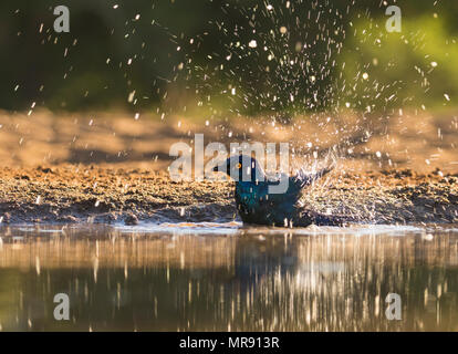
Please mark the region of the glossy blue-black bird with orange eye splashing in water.
POLYGON ((330 173, 332 168, 323 168, 310 175, 303 171, 295 176, 281 174, 272 179, 267 177, 254 157, 240 154, 228 157, 212 170, 226 173, 236 180, 236 206, 243 225, 308 227, 312 223, 344 223, 341 217, 308 210, 300 202, 305 187, 330 173), (275 188, 283 190, 279 191, 275 188))

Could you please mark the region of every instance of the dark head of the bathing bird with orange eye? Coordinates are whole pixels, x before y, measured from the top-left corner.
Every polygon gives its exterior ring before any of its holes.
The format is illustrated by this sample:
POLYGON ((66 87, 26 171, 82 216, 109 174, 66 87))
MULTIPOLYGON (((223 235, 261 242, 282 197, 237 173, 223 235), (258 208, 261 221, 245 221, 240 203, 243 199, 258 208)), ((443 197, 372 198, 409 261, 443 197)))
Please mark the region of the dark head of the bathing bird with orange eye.
POLYGON ((214 171, 225 173, 236 181, 262 181, 266 179, 262 167, 254 157, 233 155, 215 166, 214 171))

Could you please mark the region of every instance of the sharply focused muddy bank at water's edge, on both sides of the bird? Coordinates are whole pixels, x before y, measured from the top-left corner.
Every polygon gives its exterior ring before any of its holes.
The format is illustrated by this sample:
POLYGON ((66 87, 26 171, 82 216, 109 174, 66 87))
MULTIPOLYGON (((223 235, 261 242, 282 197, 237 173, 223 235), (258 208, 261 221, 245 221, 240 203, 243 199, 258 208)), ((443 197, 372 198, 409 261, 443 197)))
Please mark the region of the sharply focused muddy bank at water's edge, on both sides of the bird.
MULTIPOLYGON (((174 183, 150 169, 61 165, 0 168, 0 218, 19 222, 230 221, 230 181, 174 183)), ((362 222, 458 221, 458 175, 334 170, 309 188, 312 210, 362 222)))

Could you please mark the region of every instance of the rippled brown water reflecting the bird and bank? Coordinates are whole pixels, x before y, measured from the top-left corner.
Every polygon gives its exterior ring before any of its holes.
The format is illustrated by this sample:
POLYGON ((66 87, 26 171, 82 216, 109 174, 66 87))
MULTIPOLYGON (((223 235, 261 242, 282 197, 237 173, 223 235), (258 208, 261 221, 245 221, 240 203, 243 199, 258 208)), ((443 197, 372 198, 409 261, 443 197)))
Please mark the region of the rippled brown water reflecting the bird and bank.
POLYGON ((458 228, 0 229, 3 331, 457 331, 458 228), (56 321, 56 293, 70 320, 56 321), (402 320, 387 320, 388 293, 402 320))

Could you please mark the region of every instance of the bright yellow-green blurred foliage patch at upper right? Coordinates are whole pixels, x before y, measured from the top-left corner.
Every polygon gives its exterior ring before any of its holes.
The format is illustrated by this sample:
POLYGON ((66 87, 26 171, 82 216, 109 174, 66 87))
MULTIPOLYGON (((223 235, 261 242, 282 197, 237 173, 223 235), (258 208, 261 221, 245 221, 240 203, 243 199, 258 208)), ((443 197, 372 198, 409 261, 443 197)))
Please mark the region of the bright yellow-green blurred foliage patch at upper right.
POLYGON ((458 82, 452 80, 458 77, 458 46, 444 20, 405 18, 400 33, 385 31, 384 21, 354 24, 355 35, 340 61, 343 102, 386 111, 437 107, 448 104, 446 95, 458 97, 458 82))

